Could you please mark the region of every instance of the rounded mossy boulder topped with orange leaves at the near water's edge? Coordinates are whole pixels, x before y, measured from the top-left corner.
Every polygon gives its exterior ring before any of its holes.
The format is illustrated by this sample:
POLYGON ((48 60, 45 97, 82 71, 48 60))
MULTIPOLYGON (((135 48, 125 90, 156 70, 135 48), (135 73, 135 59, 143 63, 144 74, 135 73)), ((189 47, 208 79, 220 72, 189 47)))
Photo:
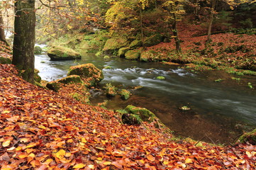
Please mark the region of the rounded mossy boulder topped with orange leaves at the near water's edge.
POLYGON ((89 86, 96 86, 99 81, 104 79, 102 70, 91 63, 72 66, 69 68, 67 75, 78 75, 84 79, 89 86))

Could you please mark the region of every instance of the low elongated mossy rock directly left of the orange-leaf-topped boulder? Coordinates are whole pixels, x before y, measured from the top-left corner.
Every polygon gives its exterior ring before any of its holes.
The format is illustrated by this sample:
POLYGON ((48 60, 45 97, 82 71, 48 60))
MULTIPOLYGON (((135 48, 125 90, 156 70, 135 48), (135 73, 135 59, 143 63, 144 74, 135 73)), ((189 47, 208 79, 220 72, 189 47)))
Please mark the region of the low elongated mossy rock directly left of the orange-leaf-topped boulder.
POLYGON ((77 75, 71 75, 62 79, 50 81, 46 84, 46 87, 54 91, 59 91, 63 84, 84 84, 84 81, 77 75))

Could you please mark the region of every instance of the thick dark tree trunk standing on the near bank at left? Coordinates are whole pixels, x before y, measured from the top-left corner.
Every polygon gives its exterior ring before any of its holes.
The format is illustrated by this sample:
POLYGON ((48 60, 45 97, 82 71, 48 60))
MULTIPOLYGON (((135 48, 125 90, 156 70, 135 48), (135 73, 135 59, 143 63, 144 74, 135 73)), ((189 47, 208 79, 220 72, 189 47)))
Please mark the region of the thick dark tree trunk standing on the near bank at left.
POLYGON ((35 0, 18 0, 15 3, 13 61, 26 81, 35 84, 35 0))

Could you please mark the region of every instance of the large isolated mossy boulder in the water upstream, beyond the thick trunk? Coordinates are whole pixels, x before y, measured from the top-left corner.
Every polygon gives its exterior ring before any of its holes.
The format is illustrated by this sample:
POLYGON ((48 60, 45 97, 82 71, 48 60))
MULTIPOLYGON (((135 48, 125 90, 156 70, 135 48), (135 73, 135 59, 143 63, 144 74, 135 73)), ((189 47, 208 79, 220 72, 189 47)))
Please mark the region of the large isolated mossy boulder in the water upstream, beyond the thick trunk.
POLYGON ((50 60, 76 60, 81 59, 81 55, 75 52, 71 48, 53 46, 48 50, 48 56, 50 60))

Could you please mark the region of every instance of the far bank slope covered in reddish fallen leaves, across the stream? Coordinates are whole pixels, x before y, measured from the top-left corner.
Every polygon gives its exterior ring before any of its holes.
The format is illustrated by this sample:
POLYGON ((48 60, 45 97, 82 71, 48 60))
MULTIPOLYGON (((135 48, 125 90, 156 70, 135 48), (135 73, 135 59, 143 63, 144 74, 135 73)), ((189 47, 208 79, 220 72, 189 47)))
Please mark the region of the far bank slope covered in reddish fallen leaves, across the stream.
POLYGON ((179 25, 182 47, 179 55, 173 39, 146 50, 153 51, 160 59, 168 57, 172 62, 189 64, 189 69, 220 69, 232 74, 256 75, 256 35, 218 33, 211 35, 211 42, 206 43, 207 35, 200 33, 199 27, 179 25))

